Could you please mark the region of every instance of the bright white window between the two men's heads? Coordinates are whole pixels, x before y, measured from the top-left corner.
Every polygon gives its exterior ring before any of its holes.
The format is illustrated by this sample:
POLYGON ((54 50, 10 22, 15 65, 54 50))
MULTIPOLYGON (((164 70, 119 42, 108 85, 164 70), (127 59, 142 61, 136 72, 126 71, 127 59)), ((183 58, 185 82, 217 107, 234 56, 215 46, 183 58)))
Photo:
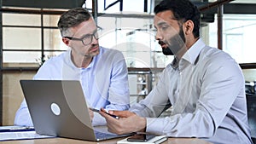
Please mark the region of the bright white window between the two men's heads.
POLYGON ((97 18, 98 25, 104 29, 99 40, 101 45, 123 52, 129 67, 165 67, 169 64, 173 56, 163 55, 154 39, 153 16, 128 15, 97 18))

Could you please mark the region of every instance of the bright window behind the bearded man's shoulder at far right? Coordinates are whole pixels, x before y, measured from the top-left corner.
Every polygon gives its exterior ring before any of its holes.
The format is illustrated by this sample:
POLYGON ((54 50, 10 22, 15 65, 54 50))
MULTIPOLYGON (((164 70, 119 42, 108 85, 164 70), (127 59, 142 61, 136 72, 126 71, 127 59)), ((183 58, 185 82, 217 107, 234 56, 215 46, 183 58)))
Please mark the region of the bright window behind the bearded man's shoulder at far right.
MULTIPOLYGON (((211 23, 209 29, 209 44, 217 47, 217 22, 211 23)), ((238 63, 256 63, 255 29, 256 14, 224 14, 223 50, 238 63)))

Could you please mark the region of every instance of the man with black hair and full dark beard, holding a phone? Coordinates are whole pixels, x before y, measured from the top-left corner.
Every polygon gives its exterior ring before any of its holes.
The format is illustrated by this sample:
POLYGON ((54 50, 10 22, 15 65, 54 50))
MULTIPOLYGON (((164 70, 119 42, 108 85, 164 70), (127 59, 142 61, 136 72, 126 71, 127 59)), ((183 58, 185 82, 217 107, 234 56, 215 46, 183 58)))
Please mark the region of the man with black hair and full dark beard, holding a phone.
POLYGON ((143 101, 129 111, 109 111, 119 119, 101 112, 108 130, 197 137, 214 144, 253 143, 241 68, 230 55, 202 42, 195 5, 189 0, 163 0, 154 13, 155 37, 163 53, 174 55, 174 60, 143 101), (170 116, 158 118, 169 107, 170 116))

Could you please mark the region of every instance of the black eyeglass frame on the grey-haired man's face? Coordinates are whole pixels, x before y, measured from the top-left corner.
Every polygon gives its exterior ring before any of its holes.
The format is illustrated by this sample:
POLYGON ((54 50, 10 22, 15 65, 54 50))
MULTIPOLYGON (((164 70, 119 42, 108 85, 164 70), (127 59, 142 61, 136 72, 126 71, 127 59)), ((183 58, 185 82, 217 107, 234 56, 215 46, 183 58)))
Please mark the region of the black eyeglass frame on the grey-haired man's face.
POLYGON ((90 43, 92 43, 92 37, 95 37, 95 39, 98 40, 99 39, 98 32, 101 32, 103 30, 102 27, 100 27, 100 26, 96 26, 96 27, 97 28, 96 28, 95 32, 93 32, 92 34, 86 34, 82 38, 77 38, 77 37, 64 37, 64 38, 68 38, 68 39, 74 40, 74 41, 81 41, 84 44, 84 46, 89 45, 90 43), (96 33, 97 33, 97 35, 96 35, 96 33), (90 43, 84 43, 84 38, 88 38, 88 37, 90 37, 90 43))

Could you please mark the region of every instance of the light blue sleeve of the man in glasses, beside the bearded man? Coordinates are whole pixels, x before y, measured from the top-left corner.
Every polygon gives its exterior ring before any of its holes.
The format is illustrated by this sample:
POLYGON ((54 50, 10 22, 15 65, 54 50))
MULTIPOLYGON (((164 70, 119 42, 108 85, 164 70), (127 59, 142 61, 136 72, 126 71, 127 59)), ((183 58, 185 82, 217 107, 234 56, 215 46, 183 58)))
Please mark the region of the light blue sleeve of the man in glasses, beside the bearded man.
MULTIPOLYGON (((121 52, 112 49, 102 55, 96 69, 96 87, 101 92, 102 98, 108 101, 103 107, 106 111, 129 109, 128 70, 121 52)), ((105 118, 96 112, 92 122, 93 125, 106 124, 105 118)))

